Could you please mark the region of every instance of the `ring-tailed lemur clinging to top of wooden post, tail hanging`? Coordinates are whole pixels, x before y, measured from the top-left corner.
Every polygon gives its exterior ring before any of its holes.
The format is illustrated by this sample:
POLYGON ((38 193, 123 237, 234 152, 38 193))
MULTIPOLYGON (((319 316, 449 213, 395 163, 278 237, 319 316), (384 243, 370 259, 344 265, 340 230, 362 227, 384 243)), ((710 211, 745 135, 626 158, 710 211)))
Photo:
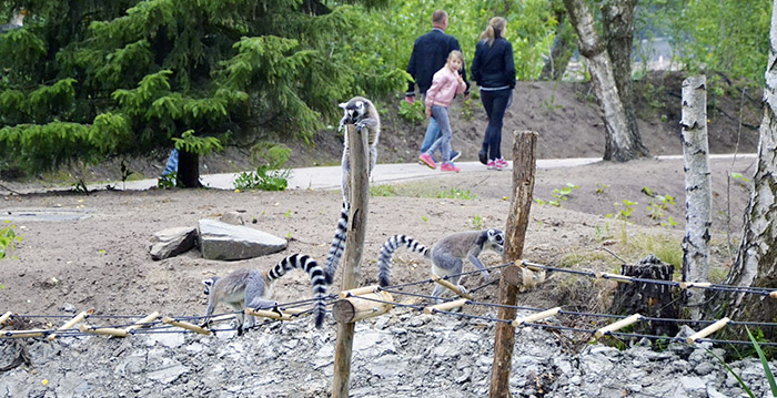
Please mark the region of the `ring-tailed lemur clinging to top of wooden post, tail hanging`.
MULTIPOLYGON (((344 110, 343 119, 340 120, 340 126, 337 131, 344 131, 346 124, 355 124, 356 132, 362 133, 366 127, 369 131, 367 143, 370 145, 370 159, 369 159, 369 170, 367 177, 372 174, 372 170, 375 167, 375 162, 377 161, 377 139, 381 136, 381 116, 377 114, 377 110, 372 101, 363 96, 354 96, 351 101, 341 103, 340 108, 344 110)), ((347 227, 349 227, 349 213, 351 204, 349 202, 349 182, 351 175, 351 156, 349 151, 349 135, 344 134, 345 140, 343 142, 343 160, 342 160, 342 192, 343 192, 343 207, 340 211, 340 218, 337 220, 337 228, 334 233, 334 238, 332 239, 332 245, 330 246, 329 255, 326 256, 326 264, 324 271, 329 278, 334 278, 334 273, 337 271, 337 264, 340 263, 340 257, 345 247, 345 239, 347 238, 347 227)))

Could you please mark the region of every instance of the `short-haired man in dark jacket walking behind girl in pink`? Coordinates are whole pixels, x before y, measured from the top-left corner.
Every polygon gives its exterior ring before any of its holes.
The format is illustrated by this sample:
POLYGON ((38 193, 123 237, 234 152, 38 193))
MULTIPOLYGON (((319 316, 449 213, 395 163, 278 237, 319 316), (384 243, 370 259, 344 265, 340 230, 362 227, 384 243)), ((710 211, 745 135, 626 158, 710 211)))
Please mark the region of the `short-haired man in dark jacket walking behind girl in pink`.
MULTIPOLYGON (((434 73, 445 67, 447 55, 451 51, 462 50, 456 38, 445 34, 447 22, 447 12, 443 10, 434 11, 432 14, 432 24, 434 28, 428 33, 415 39, 415 43, 413 44, 413 54, 410 57, 410 62, 407 63, 407 73, 415 79, 415 83, 418 84, 418 92, 422 95, 425 95, 426 90, 432 85, 432 76, 434 76, 434 73)), ((470 98, 470 82, 466 80, 466 69, 463 65, 462 76, 467 86, 464 92, 464 98, 466 99, 470 98)), ((405 93, 405 101, 407 101, 407 103, 413 103, 415 101, 415 83, 413 81, 407 83, 407 92, 405 93)), ((430 119, 426 134, 424 135, 424 142, 421 144, 421 153, 426 152, 426 150, 437 141, 441 134, 442 132, 437 122, 435 122, 434 118, 430 119)), ((458 155, 460 153, 457 151, 451 151, 451 161, 453 162, 458 155)))

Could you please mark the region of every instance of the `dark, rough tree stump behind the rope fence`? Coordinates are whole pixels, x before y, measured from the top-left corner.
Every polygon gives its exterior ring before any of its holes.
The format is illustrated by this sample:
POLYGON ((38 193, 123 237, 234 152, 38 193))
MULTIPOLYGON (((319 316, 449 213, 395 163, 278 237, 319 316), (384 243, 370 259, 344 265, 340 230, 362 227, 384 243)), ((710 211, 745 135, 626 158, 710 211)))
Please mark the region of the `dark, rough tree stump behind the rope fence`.
MULTIPOLYGON (((672 280, 675 267, 648 255, 638 264, 624 264, 620 274, 644 279, 672 280)), ((644 282, 618 284, 613 297, 610 314, 630 315, 642 314, 654 318, 677 318, 677 308, 674 304, 672 286, 644 282)), ((634 325, 634 331, 650 335, 677 335, 676 323, 670 322, 642 322, 634 325)))

